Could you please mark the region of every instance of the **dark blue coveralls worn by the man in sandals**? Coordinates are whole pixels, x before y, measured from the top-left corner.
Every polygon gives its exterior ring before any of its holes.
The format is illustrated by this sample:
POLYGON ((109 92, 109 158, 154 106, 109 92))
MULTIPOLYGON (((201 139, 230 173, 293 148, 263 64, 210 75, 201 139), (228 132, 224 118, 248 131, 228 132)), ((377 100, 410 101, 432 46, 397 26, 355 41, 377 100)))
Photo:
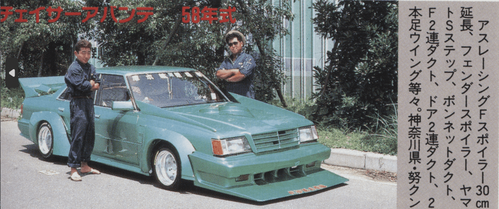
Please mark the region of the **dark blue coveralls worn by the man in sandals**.
POLYGON ((81 63, 76 59, 69 66, 64 81, 68 85, 71 112, 71 148, 68 166, 78 168, 81 162, 89 162, 95 142, 93 99, 90 80, 101 83, 93 65, 81 63))

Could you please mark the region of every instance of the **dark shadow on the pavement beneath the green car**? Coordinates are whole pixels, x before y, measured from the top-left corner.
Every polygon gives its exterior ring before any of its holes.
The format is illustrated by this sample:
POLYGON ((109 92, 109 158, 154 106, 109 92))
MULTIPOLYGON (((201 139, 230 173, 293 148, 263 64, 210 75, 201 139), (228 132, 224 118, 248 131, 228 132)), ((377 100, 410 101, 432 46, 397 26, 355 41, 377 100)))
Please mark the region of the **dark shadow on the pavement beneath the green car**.
MULTIPOLYGON (((67 165, 67 163, 68 163, 67 156, 54 156, 54 158, 49 159, 49 160, 44 159, 43 156, 38 151, 38 146, 36 144, 28 144, 28 145, 22 145, 22 146, 25 147, 26 149, 22 149, 19 151, 27 153, 30 156, 32 156, 33 158, 37 158, 41 161, 53 163, 55 165, 67 165)), ((152 185, 154 187, 157 187, 158 189, 164 189, 161 186, 161 184, 156 181, 156 178, 154 176, 145 176, 145 175, 135 173, 132 171, 128 171, 128 170, 124 170, 124 169, 120 169, 120 168, 115 168, 112 166, 108 166, 108 165, 105 165, 102 163, 97 163, 97 162, 92 162, 92 161, 89 162, 88 165, 90 167, 92 167, 93 169, 100 171, 102 174, 108 174, 108 175, 116 176, 119 178, 125 178, 125 179, 131 180, 131 181, 136 181, 140 184, 152 185)), ((67 174, 69 175, 70 172, 67 172, 67 174)), ((91 174, 82 174, 81 176, 83 177, 86 175, 91 175, 91 174)), ((298 198, 308 197, 311 195, 316 195, 316 194, 319 194, 322 192, 327 192, 329 190, 343 187, 346 185, 347 185, 346 183, 341 183, 341 184, 338 184, 338 185, 335 185, 332 187, 328 187, 325 189, 317 190, 314 192, 307 192, 307 193, 302 193, 302 194, 297 194, 297 195, 291 195, 288 197, 282 197, 282 198, 268 200, 268 201, 262 201, 262 202, 249 200, 249 199, 245 199, 245 198, 241 198, 241 197, 213 191, 210 189, 198 187, 198 186, 194 185, 193 181, 188 181, 188 180, 184 180, 182 182, 181 189, 179 189, 178 191, 173 191, 173 192, 177 192, 179 194, 195 194, 195 195, 201 195, 201 196, 217 198, 217 199, 221 199, 221 200, 229 200, 229 201, 252 204, 252 205, 268 205, 268 204, 283 202, 283 201, 287 201, 287 200, 291 200, 291 199, 298 199, 298 198)))

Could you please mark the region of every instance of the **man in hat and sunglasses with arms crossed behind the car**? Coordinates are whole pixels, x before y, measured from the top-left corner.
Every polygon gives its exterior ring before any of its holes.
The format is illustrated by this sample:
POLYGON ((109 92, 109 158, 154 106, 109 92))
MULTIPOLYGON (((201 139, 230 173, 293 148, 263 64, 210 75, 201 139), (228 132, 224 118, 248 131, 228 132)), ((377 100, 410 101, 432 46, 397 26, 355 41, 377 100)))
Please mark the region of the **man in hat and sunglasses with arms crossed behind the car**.
POLYGON ((253 70, 257 65, 255 59, 242 50, 246 38, 241 32, 232 30, 225 35, 225 42, 232 54, 217 69, 217 78, 225 80, 227 91, 254 99, 253 70))

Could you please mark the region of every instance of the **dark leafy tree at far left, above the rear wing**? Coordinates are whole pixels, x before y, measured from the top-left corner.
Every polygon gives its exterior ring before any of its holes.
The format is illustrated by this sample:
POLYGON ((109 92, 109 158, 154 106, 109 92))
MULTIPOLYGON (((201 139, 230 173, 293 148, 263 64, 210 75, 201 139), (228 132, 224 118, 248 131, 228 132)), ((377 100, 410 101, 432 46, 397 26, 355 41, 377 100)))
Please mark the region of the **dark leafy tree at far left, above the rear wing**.
MULTIPOLYGON (((59 20, 48 23, 55 15, 48 17, 46 9, 61 7, 64 11, 81 11, 83 4, 70 0, 57 1, 2 1, 2 7, 13 7, 13 10, 34 11, 40 7, 39 23, 34 14, 24 13, 23 19, 28 22, 15 22, 17 13, 2 22, 1 49, 2 63, 7 57, 19 59, 19 75, 21 77, 61 75, 73 62, 73 44, 78 34, 89 31, 93 25, 81 23, 81 19, 61 15, 59 20)), ((2 66, 3 68, 4 66, 2 66)))

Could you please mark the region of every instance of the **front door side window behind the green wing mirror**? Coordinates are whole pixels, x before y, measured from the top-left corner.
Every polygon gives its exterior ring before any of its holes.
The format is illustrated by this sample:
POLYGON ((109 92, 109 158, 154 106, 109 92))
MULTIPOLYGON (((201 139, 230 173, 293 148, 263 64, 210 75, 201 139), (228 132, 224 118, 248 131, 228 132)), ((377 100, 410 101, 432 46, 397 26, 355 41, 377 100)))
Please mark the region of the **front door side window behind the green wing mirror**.
POLYGON ((101 87, 97 90, 95 105, 111 107, 113 101, 130 100, 130 94, 126 88, 125 78, 118 75, 103 74, 101 77, 101 87))

